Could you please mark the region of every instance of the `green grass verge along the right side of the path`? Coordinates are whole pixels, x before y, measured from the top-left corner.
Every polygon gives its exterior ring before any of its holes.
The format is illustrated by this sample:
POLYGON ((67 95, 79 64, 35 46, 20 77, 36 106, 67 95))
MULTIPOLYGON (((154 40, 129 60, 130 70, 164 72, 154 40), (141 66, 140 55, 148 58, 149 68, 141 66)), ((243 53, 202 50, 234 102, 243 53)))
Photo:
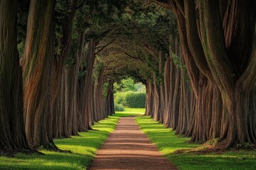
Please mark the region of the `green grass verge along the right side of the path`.
POLYGON ((149 116, 137 117, 135 120, 159 151, 178 166, 178 169, 256 169, 256 151, 234 150, 221 154, 174 154, 178 149, 191 149, 199 145, 189 144, 188 137, 174 135, 174 131, 154 122, 149 116))

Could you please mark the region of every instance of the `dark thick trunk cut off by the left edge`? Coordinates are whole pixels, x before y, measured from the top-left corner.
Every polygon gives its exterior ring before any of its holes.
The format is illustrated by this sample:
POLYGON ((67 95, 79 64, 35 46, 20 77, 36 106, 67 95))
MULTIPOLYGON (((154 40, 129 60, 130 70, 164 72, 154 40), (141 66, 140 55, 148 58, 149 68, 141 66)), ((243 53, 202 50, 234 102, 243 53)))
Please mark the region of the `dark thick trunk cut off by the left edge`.
POLYGON ((17 50, 17 1, 0 1, 0 154, 29 150, 17 50))

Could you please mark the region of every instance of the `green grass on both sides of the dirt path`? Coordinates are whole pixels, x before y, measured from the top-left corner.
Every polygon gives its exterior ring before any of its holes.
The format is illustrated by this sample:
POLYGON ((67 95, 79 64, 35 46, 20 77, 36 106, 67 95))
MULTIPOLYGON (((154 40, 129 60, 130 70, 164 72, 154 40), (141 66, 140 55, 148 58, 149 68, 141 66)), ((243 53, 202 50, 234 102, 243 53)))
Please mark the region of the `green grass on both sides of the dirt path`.
MULTIPOLYGON (((92 126, 94 130, 80 132, 80 136, 67 139, 54 140, 55 144, 63 150, 71 153, 51 152, 39 149, 40 154, 17 154, 15 157, 0 157, 0 169, 80 169, 90 166, 97 149, 107 140, 107 137, 116 128, 117 122, 122 117, 143 115, 144 109, 125 108, 124 112, 117 112, 92 126)), ((188 143, 188 137, 177 136, 175 130, 164 127, 154 122, 149 116, 135 118, 140 130, 146 134, 149 140, 156 145, 164 157, 169 159, 181 170, 240 170, 256 169, 256 151, 230 149, 228 152, 182 152, 181 149, 194 149, 202 145, 188 143)), ((144 144, 144 142, 143 142, 144 144)), ((139 145, 142 145, 141 143, 139 145)), ((135 146, 134 146, 135 147, 135 146)), ((124 161, 125 159, 122 159, 124 161)), ((161 170, 160 168, 156 168, 161 170)))

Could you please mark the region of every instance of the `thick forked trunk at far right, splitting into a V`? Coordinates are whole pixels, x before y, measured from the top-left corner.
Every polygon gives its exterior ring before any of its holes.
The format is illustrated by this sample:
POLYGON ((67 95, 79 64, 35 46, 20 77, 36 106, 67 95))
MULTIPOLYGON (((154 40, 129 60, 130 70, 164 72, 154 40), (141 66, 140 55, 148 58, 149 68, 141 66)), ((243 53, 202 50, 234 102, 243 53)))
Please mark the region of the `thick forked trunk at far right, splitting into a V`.
POLYGON ((223 110, 226 111, 223 115, 225 128, 221 133, 221 140, 226 139, 228 146, 253 143, 255 130, 252 128, 252 135, 248 135, 252 123, 247 118, 255 113, 251 102, 255 96, 252 90, 255 89, 255 75, 252 76, 256 57, 255 3, 233 1, 227 7, 224 21, 220 16, 213 17, 220 13, 220 4, 204 1, 199 5, 204 10, 204 15, 199 16, 203 50, 213 75, 213 83, 220 89, 223 110), (212 38, 210 35, 217 36, 212 38))

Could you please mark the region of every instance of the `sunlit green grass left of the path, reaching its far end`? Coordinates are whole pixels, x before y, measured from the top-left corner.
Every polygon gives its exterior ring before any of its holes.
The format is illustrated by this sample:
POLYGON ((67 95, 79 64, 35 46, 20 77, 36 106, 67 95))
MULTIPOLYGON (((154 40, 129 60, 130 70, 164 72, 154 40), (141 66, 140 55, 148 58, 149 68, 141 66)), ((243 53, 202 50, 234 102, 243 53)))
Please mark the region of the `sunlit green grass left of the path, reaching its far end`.
POLYGON ((40 149, 45 155, 17 154, 15 157, 0 157, 0 169, 86 169, 97 149, 114 130, 119 117, 143 114, 142 112, 144 113, 143 109, 125 108, 124 112, 117 112, 95 123, 92 126, 94 130, 80 132, 80 136, 54 140, 59 149, 70 150, 71 154, 40 149))

